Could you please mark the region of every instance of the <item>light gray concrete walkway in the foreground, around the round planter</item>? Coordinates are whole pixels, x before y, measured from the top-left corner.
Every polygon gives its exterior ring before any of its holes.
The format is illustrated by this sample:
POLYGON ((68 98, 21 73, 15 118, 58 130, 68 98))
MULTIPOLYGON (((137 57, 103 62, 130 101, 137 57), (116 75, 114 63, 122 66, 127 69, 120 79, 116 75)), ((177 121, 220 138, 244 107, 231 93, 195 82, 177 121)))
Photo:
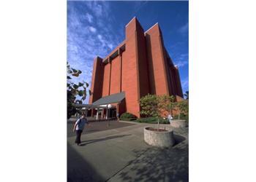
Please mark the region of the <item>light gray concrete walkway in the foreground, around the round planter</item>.
POLYGON ((82 146, 67 138, 67 181, 188 181, 188 128, 175 130, 172 149, 158 149, 143 141, 147 125, 82 135, 82 146))

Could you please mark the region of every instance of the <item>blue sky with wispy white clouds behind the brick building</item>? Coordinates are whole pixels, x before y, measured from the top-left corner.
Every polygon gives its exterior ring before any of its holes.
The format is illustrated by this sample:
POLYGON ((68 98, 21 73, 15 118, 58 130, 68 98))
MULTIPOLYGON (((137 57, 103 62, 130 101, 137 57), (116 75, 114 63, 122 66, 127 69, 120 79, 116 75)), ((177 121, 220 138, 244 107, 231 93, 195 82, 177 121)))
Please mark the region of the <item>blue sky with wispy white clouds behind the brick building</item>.
MULTIPOLYGON (((159 23, 167 52, 178 65, 183 92, 189 90, 188 1, 67 1, 67 60, 83 71, 73 81, 91 86, 94 58, 105 58, 124 41, 124 27, 135 16, 144 31, 159 23)), ((89 95, 85 103, 88 100, 89 95)))

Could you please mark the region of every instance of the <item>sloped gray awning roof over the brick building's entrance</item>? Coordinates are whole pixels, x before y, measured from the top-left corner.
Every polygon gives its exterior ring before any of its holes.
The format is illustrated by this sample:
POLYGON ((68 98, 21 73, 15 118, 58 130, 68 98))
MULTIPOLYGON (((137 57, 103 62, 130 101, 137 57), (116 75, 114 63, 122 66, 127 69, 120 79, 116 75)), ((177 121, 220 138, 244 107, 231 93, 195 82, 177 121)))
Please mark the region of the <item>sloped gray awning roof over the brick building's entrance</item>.
POLYGON ((108 103, 120 103, 121 100, 125 98, 125 92, 116 93, 113 95, 108 95, 99 100, 96 100, 93 105, 104 105, 108 103))

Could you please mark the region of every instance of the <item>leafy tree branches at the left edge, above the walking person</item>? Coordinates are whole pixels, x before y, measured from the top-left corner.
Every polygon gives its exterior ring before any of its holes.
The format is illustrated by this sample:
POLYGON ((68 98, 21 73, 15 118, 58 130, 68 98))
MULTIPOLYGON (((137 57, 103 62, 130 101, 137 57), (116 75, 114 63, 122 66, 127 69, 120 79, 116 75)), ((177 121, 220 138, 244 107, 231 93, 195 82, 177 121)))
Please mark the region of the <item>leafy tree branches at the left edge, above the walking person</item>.
MULTIPOLYGON (((75 104, 83 103, 83 100, 86 100, 86 91, 89 84, 87 82, 78 82, 77 84, 72 82, 72 77, 78 77, 80 74, 82 74, 82 71, 71 68, 67 62, 67 119, 77 113, 75 104), (77 96, 80 96, 80 99, 77 96)), ((90 90, 89 94, 91 95, 90 90)))

